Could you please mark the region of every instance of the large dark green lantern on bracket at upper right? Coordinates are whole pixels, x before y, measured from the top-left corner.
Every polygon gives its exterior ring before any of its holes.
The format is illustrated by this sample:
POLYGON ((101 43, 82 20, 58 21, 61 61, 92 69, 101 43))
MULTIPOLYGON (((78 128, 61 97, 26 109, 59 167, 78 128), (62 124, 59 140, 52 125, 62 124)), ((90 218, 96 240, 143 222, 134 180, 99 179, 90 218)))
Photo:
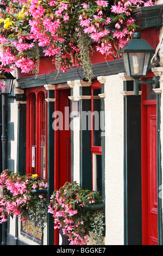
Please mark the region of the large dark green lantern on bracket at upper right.
POLYGON ((152 81, 139 81, 141 77, 146 77, 152 53, 155 50, 145 39, 140 39, 140 32, 133 33, 133 39, 129 40, 122 48, 124 69, 127 77, 134 78, 134 95, 139 95, 139 84, 151 83, 158 87, 158 78, 154 77, 152 81))

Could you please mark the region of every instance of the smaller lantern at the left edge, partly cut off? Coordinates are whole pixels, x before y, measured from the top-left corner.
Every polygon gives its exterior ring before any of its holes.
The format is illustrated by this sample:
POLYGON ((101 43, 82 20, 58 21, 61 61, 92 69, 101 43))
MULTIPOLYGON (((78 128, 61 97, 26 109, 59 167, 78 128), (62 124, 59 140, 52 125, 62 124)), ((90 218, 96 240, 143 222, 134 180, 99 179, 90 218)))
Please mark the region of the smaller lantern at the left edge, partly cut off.
POLYGON ((10 94, 15 77, 7 72, 5 72, 3 76, 1 82, 4 85, 4 88, 1 88, 1 94, 10 94))

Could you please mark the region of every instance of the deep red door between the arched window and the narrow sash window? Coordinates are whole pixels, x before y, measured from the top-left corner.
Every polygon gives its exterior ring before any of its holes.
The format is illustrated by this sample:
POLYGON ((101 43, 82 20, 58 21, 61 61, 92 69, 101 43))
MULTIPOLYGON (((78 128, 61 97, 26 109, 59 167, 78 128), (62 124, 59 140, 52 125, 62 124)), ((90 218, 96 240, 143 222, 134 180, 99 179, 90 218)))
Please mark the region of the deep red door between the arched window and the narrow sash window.
MULTIPOLYGON (((71 129, 70 89, 55 89, 55 155, 54 155, 54 189, 58 190, 67 181, 71 182, 71 129)), ((59 231, 55 229, 54 245, 59 245, 59 231)))

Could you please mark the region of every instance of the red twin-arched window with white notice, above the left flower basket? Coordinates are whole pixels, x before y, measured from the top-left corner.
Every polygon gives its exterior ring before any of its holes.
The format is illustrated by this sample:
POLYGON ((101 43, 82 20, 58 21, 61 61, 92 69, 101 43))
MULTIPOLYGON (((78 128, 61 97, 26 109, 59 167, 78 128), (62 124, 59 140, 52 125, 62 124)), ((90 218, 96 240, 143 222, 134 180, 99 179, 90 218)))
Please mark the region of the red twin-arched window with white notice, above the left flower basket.
POLYGON ((46 90, 27 90, 27 173, 47 178, 46 167, 46 90))

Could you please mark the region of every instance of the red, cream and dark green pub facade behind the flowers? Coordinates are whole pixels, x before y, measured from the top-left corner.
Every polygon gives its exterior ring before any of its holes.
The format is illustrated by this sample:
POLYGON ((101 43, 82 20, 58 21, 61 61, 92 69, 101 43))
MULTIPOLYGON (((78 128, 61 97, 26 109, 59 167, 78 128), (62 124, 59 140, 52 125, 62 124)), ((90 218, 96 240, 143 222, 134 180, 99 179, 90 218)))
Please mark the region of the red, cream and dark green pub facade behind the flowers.
MULTIPOLYGON (((39 75, 34 70, 30 74, 15 70, 12 95, 22 98, 8 99, 7 104, 8 169, 47 179, 50 194, 66 181, 100 190, 104 245, 163 242, 162 1, 137 8, 133 17, 141 27, 141 38, 154 50, 159 46, 143 78, 159 76, 159 88, 143 83, 139 95, 134 95, 133 78, 126 76, 115 40, 108 62, 100 53, 93 54, 91 83, 84 81, 82 69, 76 66, 57 75, 51 58, 41 54, 39 75), (96 118, 89 115, 92 112, 100 117, 96 129, 90 129, 96 118)), ((30 221, 22 224, 9 218, 7 245, 66 245, 52 226, 50 218, 44 230, 32 227, 30 221)))

